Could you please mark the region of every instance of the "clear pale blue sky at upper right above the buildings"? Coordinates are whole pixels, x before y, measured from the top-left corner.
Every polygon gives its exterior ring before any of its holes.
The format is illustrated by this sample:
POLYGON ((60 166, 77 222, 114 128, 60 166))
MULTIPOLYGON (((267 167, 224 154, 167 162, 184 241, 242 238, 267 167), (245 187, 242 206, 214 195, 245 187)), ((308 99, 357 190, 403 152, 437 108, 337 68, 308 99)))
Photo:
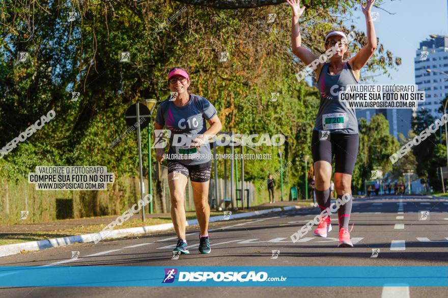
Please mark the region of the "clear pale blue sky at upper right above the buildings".
MULTIPOLYGON (((390 70, 387 75, 375 77, 377 84, 414 84, 414 57, 419 43, 429 35, 448 35, 448 0, 386 0, 381 8, 389 13, 379 12, 379 20, 374 23, 375 31, 384 50, 402 58, 398 70, 390 70)), ((355 12, 354 24, 358 30, 366 31, 366 20, 362 13, 355 12), (356 14, 358 14, 356 16, 356 14)))

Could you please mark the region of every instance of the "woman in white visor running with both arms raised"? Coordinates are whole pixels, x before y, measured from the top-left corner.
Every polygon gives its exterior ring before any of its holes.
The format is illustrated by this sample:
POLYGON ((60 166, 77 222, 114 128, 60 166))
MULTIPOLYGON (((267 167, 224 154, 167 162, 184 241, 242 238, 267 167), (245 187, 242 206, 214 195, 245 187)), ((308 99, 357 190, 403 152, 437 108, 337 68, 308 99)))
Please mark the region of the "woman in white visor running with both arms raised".
MULTIPOLYGON (((293 12, 292 51, 304 64, 309 65, 318 60, 318 57, 309 49, 302 47, 299 18, 305 7, 300 7, 300 0, 287 0, 287 2, 293 12)), ((348 225, 352 209, 351 180, 358 154, 359 137, 355 111, 339 101, 338 91, 345 90, 347 85, 358 83, 361 68, 367 64, 376 50, 377 40, 370 14, 374 3, 375 0, 367 0, 366 6, 362 5, 362 13, 367 23, 367 45, 362 47, 354 57, 344 61, 344 55, 348 50, 347 37, 342 31, 331 31, 325 37, 325 50, 332 49, 334 54, 326 62, 317 63, 314 70, 321 94, 311 142, 317 202, 321 210, 330 207, 329 188, 333 156, 335 156, 334 186, 338 198, 346 193, 350 194, 350 201, 338 209, 339 247, 353 247, 348 225), (330 136, 320 140, 322 131, 329 131, 330 136)), ((330 218, 324 216, 314 231, 314 235, 327 237, 330 230, 330 218)))

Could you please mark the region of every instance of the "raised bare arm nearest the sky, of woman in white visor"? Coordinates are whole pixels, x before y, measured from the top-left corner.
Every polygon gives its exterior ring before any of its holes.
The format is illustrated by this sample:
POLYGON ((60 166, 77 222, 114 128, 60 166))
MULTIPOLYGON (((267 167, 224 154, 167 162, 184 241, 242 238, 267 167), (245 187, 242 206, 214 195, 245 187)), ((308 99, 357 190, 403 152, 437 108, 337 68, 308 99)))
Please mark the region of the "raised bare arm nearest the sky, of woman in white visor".
POLYGON ((367 0, 366 6, 362 6, 362 13, 366 16, 367 23, 367 45, 363 46, 362 49, 350 59, 349 64, 353 71, 359 71, 366 65, 377 48, 375 27, 373 26, 372 16, 370 14, 374 3, 375 0, 367 0))

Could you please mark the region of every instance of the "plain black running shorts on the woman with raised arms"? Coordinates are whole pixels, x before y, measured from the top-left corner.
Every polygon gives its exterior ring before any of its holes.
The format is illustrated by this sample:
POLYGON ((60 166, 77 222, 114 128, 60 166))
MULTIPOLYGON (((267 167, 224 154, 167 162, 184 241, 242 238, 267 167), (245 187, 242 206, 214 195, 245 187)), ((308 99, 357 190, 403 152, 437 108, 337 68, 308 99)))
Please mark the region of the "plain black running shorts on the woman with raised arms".
POLYGON ((358 155, 359 135, 331 134, 313 130, 311 138, 311 152, 314 162, 328 161, 332 164, 335 156, 335 173, 353 174, 356 156, 358 155))

